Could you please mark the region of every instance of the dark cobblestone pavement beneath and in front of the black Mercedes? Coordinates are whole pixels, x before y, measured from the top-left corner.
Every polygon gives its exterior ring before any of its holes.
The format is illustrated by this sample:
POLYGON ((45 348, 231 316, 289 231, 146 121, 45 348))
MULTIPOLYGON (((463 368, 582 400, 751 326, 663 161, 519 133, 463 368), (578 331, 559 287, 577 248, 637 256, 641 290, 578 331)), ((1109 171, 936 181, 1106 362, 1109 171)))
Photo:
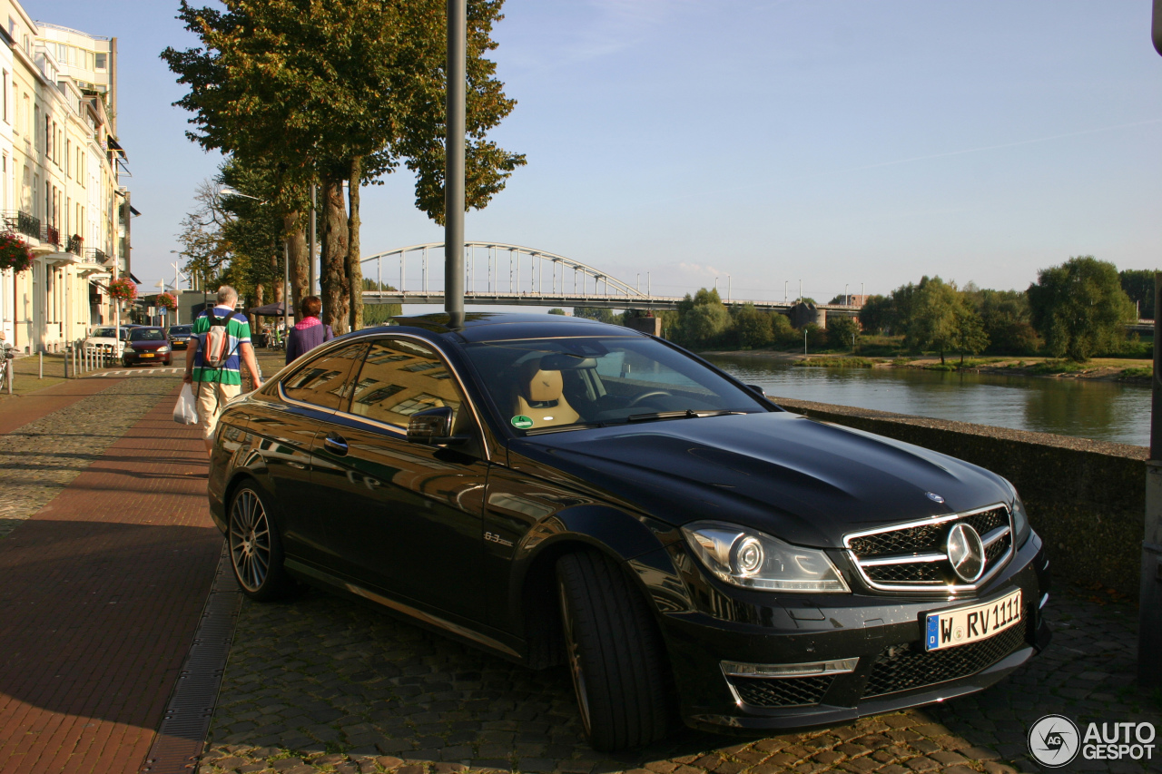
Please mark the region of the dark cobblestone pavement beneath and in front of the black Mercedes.
MULTIPOLYGON (((1046 714, 1162 728, 1162 698, 1133 685, 1136 608, 1086 594, 1057 593, 1050 648, 975 696, 766 739, 679 730, 618 757, 581 741, 564 669, 530 672, 317 590, 286 603, 246 602, 201 772, 1038 771, 1025 734, 1046 714)), ((1086 769, 1079 764, 1073 768, 1086 769)))

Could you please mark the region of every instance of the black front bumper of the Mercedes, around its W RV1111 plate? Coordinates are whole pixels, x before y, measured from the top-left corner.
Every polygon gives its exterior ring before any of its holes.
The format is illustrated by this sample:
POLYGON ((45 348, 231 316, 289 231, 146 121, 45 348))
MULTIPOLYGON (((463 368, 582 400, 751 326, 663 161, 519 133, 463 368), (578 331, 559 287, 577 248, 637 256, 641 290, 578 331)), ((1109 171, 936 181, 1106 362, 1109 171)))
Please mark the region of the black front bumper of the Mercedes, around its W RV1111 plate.
MULTIPOLYGON (((718 587, 697 611, 661 616, 688 725, 715 731, 844 723, 982 690, 1049 643, 1041 605, 1048 560, 1037 535, 985 588, 956 600, 921 595, 817 594, 772 599, 718 587), (1020 588, 1023 621, 994 637, 924 651, 930 612, 1020 588), (789 665, 859 659, 854 669, 803 678, 727 678, 723 661, 789 665)), ((849 661, 848 661, 849 665, 849 661)))

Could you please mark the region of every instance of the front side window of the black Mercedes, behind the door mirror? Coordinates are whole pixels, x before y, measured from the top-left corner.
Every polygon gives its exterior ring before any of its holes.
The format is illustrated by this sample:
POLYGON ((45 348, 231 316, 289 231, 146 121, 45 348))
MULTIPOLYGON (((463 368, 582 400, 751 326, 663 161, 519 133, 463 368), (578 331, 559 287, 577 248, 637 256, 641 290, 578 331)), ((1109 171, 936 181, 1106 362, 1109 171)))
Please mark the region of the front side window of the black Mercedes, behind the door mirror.
POLYGON ((404 338, 372 343, 351 396, 351 413, 406 429, 408 417, 439 406, 457 413, 464 397, 446 365, 430 347, 404 338))

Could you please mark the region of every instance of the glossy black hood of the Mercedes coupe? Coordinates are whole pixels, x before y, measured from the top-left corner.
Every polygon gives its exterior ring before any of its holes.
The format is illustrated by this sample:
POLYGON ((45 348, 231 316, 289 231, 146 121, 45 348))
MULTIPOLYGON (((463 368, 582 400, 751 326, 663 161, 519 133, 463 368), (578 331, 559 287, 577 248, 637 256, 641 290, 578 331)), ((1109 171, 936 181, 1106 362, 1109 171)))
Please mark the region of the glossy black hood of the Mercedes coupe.
POLYGON ((672 524, 726 521, 817 547, 1011 499, 975 465, 790 413, 536 435, 512 442, 510 465, 555 468, 672 524))

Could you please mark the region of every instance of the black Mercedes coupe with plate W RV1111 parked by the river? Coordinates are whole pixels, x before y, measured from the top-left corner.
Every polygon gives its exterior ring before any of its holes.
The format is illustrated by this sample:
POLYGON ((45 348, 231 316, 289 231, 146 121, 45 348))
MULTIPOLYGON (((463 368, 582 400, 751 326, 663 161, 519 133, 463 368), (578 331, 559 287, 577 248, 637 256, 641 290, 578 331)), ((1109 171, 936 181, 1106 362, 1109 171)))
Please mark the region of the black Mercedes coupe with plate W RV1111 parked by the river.
POLYGON ((223 411, 210 511, 252 599, 308 581, 567 664, 604 750, 674 715, 769 730, 940 701, 1048 644, 1048 559, 999 475, 626 328, 396 321, 223 411))

